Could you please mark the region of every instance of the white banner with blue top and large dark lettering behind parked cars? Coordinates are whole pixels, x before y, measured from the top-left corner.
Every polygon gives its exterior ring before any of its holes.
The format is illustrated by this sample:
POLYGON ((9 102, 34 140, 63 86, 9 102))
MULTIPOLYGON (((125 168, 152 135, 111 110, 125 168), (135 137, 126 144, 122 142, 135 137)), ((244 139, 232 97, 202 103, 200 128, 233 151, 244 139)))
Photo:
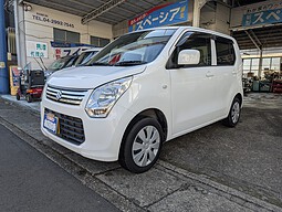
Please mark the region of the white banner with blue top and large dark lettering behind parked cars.
POLYGON ((82 51, 96 47, 90 44, 83 43, 61 43, 51 41, 51 46, 54 47, 55 59, 67 55, 79 55, 82 51))

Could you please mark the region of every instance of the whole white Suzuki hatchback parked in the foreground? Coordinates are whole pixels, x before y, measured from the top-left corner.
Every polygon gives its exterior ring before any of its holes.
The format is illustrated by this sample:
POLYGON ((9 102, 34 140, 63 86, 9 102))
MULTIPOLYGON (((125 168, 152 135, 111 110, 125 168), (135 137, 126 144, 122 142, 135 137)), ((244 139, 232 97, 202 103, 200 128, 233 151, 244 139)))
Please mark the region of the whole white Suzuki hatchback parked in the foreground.
POLYGON ((234 39, 191 26, 148 29, 116 39, 86 66, 54 73, 41 130, 86 158, 140 173, 165 141, 221 119, 234 127, 242 97, 234 39))

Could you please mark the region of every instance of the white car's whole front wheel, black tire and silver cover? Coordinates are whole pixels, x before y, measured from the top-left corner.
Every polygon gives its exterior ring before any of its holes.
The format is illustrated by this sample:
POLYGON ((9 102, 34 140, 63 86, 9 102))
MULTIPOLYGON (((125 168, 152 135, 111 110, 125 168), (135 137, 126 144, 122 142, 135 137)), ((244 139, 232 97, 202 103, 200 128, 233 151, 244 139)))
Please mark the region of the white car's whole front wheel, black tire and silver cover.
POLYGON ((161 126, 156 119, 149 117, 140 119, 129 129, 121 145, 118 159, 121 166, 134 173, 142 173, 149 170, 159 157, 164 139, 165 136, 161 126), (139 137, 140 134, 144 134, 145 137, 150 134, 148 136, 150 139, 143 141, 139 137), (133 150, 134 147, 137 147, 136 145, 142 146, 142 149, 133 150), (138 158, 137 155, 143 155, 139 162, 143 163, 143 161, 147 161, 147 163, 142 166, 136 163, 138 159, 134 159, 133 155, 135 155, 136 158, 138 158), (152 159, 154 158, 153 160, 150 160, 150 156, 152 159))

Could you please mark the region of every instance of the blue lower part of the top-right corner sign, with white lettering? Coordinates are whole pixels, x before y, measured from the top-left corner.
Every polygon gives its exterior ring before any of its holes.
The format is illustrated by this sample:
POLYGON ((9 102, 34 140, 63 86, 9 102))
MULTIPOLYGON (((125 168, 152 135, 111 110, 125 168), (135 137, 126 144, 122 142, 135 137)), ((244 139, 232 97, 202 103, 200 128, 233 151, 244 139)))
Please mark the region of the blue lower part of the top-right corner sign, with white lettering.
POLYGON ((267 10, 243 15, 242 25, 263 25, 282 22, 282 9, 267 10))

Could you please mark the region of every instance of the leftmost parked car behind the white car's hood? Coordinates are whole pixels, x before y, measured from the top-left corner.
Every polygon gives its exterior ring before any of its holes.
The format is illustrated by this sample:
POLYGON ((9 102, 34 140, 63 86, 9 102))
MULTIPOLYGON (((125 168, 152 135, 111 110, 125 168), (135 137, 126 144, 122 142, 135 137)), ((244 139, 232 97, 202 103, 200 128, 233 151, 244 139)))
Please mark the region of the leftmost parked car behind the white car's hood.
POLYGON ((79 55, 69 55, 55 60, 44 72, 45 78, 56 71, 63 70, 65 67, 71 67, 75 64, 79 55))

